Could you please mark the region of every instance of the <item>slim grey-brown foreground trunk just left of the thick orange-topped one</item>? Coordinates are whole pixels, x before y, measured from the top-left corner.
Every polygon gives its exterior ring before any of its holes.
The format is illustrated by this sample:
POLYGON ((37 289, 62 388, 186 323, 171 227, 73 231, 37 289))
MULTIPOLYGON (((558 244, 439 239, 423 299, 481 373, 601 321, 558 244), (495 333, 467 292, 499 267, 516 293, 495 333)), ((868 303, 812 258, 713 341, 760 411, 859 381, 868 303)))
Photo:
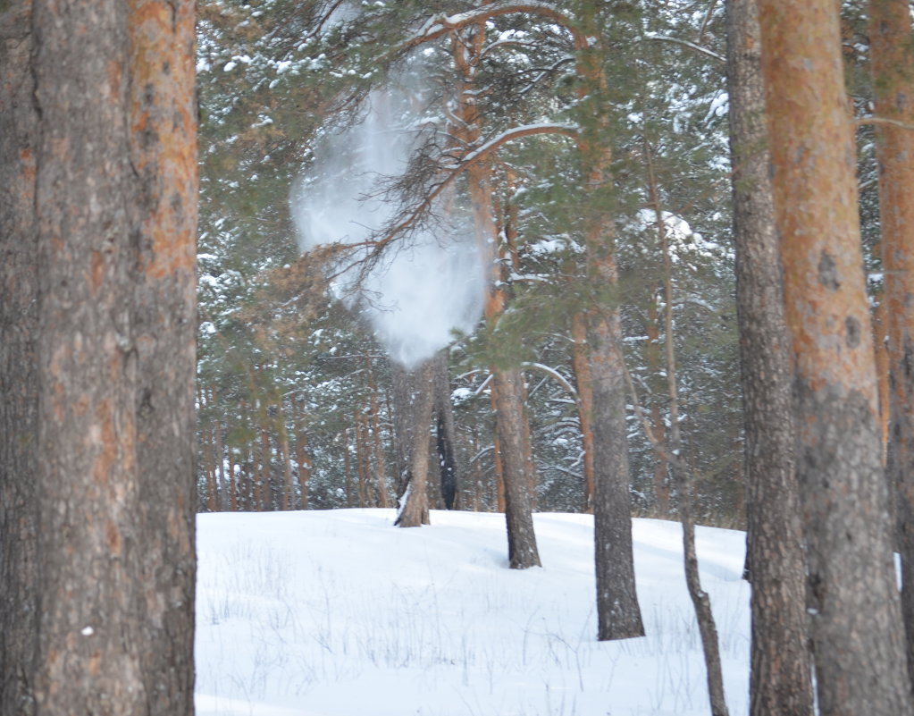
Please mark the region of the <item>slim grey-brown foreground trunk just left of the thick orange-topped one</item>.
POLYGON ((727 5, 733 238, 752 584, 749 713, 813 713, 793 432, 793 372, 774 224, 755 0, 727 5))

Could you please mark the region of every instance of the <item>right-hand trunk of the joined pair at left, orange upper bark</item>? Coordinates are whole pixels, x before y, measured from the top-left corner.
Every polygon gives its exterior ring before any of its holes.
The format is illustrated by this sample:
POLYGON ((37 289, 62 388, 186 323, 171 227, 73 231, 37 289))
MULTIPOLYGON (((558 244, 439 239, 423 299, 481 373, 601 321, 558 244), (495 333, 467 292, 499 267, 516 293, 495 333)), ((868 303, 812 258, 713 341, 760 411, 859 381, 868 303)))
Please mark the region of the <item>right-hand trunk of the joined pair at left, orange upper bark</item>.
POLYGON ((143 476, 133 518, 143 525, 143 580, 151 585, 143 595, 147 629, 159 645, 147 647, 141 662, 149 700, 144 712, 177 716, 194 708, 196 4, 127 5, 131 160, 143 183, 133 204, 140 223, 133 234, 136 464, 143 476))

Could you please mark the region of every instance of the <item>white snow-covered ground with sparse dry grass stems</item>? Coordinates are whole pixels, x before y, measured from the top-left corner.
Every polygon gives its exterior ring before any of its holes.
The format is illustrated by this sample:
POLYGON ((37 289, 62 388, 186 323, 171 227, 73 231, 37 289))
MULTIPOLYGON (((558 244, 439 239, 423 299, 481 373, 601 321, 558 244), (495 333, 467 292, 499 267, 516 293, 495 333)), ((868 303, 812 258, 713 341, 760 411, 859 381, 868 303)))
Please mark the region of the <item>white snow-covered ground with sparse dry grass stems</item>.
MULTIPOLYGON (((201 716, 689 716, 709 712, 681 530, 634 521, 647 635, 596 641, 593 521, 539 514, 543 569, 507 569, 505 518, 393 510, 201 515, 201 716)), ((730 713, 747 711, 742 532, 698 529, 730 713)))

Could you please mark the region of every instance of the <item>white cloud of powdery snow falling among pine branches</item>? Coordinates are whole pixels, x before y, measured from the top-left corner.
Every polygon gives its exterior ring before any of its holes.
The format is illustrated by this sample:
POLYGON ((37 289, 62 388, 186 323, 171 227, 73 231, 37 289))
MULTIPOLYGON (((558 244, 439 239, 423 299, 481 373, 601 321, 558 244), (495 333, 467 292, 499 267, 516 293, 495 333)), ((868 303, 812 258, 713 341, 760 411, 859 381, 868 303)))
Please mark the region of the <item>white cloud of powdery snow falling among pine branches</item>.
MULTIPOLYGON (((312 169, 292 187, 303 251, 367 240, 398 208, 380 189, 406 169, 417 117, 394 91, 374 92, 369 104, 364 122, 329 135, 315 151, 312 169)), ((356 251, 350 262, 366 256, 367 250, 356 251)), ((450 343, 453 330, 472 332, 484 286, 472 223, 445 216, 433 230, 397 240, 367 273, 357 265, 345 269, 333 289, 367 319, 390 357, 413 369, 450 343)))

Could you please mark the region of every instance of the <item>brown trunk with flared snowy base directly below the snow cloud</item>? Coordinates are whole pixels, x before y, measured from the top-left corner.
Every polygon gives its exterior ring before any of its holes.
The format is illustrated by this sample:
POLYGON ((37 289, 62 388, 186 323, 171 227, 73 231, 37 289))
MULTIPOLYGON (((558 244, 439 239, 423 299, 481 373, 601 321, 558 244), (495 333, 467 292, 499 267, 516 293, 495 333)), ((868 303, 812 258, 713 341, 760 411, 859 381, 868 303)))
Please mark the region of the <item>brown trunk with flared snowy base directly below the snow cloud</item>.
POLYGON ((416 369, 391 367, 394 455, 397 467, 399 527, 429 524, 429 426, 434 394, 432 361, 416 369))

